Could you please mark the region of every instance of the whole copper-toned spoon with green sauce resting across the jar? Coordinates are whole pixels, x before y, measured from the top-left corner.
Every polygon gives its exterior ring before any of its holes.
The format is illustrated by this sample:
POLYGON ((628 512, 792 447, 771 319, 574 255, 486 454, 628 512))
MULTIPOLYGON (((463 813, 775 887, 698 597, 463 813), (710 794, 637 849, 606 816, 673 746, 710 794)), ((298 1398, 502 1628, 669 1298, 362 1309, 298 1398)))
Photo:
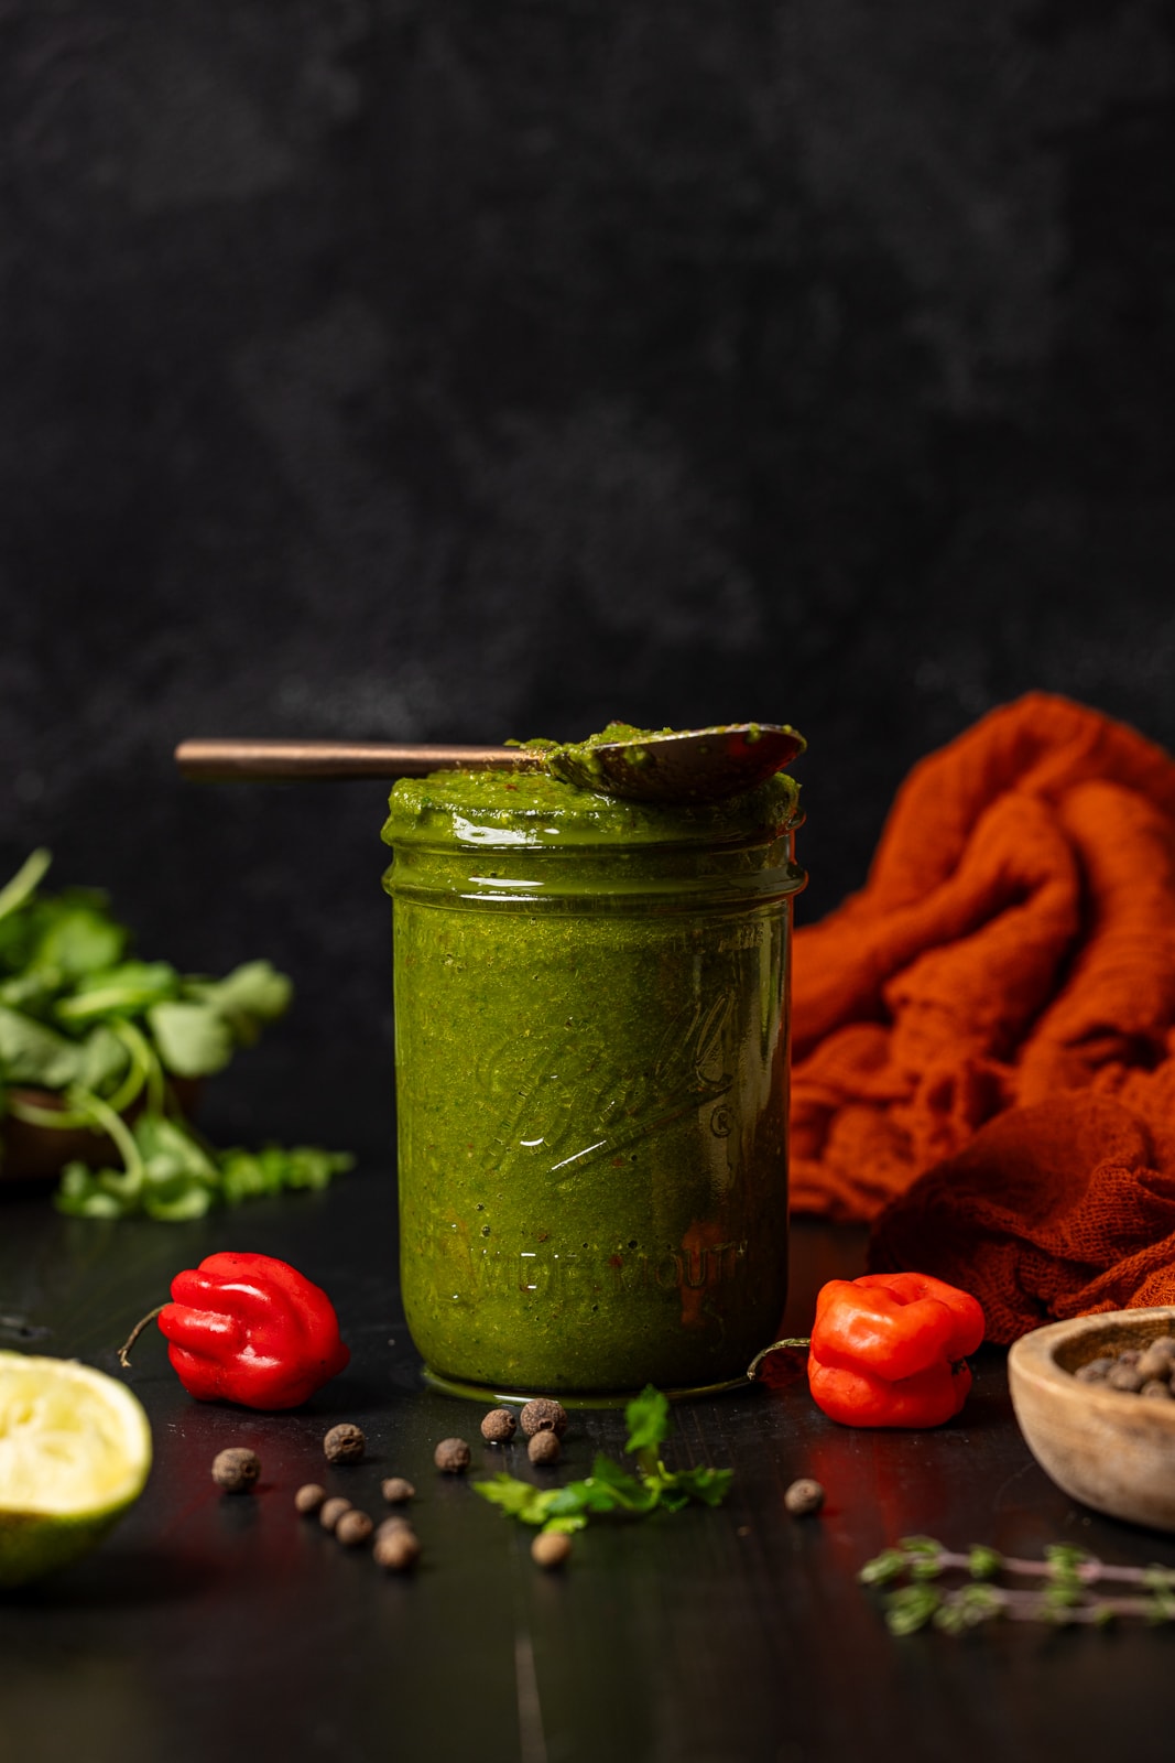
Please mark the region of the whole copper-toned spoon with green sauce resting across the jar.
POLYGON ((229 783, 303 777, 425 777, 433 770, 546 770, 564 783, 643 802, 721 802, 803 751, 794 728, 731 723, 599 746, 444 748, 356 740, 181 740, 185 777, 229 783))

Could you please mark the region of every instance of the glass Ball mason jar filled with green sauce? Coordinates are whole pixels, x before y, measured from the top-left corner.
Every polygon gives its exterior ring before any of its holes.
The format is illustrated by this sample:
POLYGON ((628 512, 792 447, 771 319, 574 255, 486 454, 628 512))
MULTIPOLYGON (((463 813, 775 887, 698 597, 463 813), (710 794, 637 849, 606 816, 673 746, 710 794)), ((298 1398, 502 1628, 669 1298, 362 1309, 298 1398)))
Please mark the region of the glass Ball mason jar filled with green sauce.
POLYGON ((787 1291, 796 785, 391 793, 400 1275, 477 1396, 742 1379, 787 1291))

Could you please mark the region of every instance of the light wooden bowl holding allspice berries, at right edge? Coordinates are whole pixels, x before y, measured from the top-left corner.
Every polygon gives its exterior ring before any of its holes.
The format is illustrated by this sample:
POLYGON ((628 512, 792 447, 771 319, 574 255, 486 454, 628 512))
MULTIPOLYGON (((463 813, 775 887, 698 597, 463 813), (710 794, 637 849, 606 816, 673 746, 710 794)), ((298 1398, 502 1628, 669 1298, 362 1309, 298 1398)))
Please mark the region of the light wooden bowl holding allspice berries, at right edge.
POLYGON ((1020 1430, 1041 1469, 1112 1518, 1175 1530, 1175 1402, 1080 1384, 1080 1365, 1175 1335, 1175 1306, 1103 1310, 1024 1335, 1008 1354, 1020 1430))

